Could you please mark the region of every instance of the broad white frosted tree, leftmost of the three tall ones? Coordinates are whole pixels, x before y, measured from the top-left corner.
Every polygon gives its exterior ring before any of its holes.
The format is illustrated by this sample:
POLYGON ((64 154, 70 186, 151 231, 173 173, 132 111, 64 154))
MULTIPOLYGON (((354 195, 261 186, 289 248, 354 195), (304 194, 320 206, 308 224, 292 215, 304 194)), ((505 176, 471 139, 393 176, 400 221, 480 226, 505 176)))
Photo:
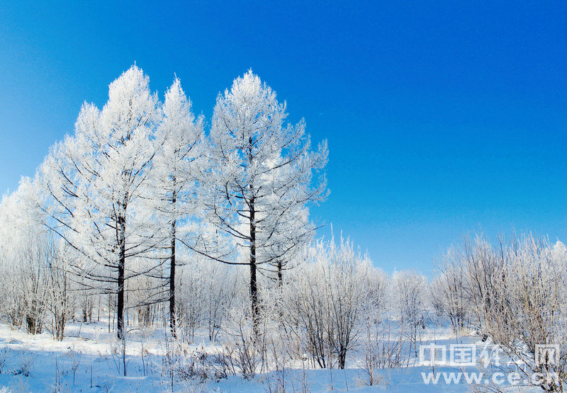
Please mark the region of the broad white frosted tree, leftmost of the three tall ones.
POLYGON ((116 293, 119 338, 125 282, 145 273, 128 270, 127 261, 149 256, 157 244, 145 197, 157 120, 149 78, 130 67, 109 86, 102 110, 84 104, 74 135, 55 144, 40 169, 47 224, 82 256, 77 274, 96 290, 116 293))

